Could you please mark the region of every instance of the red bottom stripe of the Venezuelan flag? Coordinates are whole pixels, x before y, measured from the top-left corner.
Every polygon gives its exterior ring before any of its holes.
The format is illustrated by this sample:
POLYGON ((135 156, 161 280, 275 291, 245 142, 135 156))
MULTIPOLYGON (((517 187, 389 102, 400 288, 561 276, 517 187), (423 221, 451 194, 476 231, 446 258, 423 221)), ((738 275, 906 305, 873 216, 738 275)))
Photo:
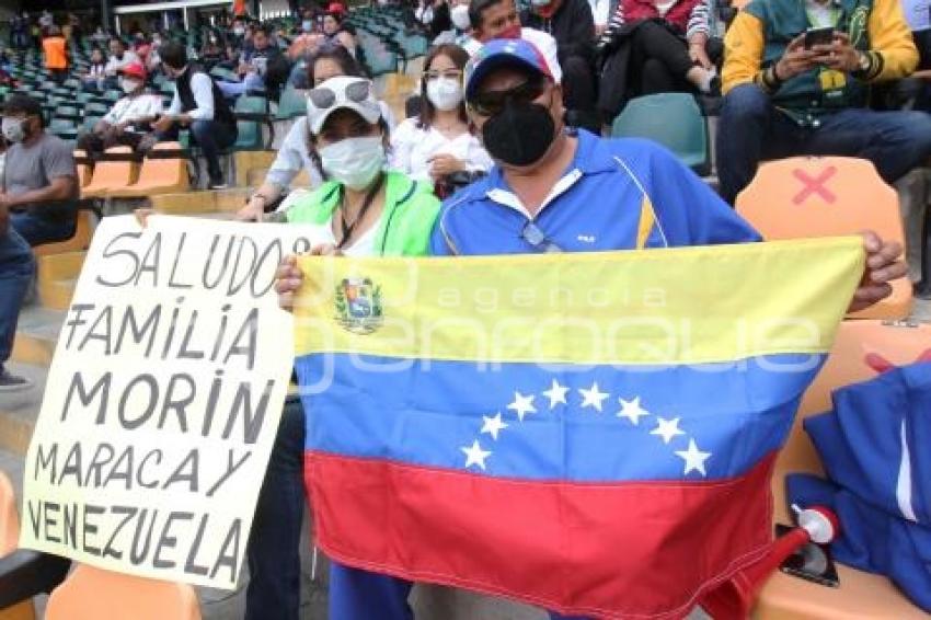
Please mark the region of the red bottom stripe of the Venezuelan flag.
POLYGON ((522 481, 307 452, 332 559, 564 613, 679 618, 771 541, 774 453, 739 478, 522 481))

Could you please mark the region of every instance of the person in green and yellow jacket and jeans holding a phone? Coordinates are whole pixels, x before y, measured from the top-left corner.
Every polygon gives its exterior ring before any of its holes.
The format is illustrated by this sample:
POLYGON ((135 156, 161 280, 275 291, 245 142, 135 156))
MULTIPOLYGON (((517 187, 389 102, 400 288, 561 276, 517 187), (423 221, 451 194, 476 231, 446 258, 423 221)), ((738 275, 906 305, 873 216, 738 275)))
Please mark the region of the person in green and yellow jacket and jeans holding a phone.
POLYGON ((869 84, 918 64, 898 0, 756 0, 725 37, 717 141, 721 192, 731 203, 761 160, 794 154, 869 159, 892 183, 931 156, 931 116, 866 108, 869 84), (805 47, 806 25, 835 27, 832 43, 805 47))

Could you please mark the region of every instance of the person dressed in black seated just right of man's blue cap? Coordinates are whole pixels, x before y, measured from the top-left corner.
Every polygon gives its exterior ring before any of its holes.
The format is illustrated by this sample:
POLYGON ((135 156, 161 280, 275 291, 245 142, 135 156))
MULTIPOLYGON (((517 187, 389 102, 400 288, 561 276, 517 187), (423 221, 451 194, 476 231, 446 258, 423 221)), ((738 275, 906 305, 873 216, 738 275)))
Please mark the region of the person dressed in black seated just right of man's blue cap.
POLYGON ((520 21, 556 39, 566 122, 600 134, 601 117, 596 112, 595 21, 588 0, 536 0, 520 21))

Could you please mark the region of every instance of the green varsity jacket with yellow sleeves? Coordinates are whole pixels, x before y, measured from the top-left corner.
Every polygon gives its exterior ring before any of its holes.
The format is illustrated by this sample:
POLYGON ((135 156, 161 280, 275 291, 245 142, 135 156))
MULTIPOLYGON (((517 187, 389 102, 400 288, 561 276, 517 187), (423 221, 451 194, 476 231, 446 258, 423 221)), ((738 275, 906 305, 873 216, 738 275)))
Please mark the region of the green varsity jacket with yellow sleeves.
POLYGON ((838 0, 836 7, 836 27, 869 55, 870 69, 862 73, 813 69, 773 83, 766 70, 811 22, 804 0, 754 0, 724 38, 724 93, 755 83, 800 124, 809 124, 820 114, 865 105, 871 82, 904 78, 915 70, 918 50, 899 0, 838 0))

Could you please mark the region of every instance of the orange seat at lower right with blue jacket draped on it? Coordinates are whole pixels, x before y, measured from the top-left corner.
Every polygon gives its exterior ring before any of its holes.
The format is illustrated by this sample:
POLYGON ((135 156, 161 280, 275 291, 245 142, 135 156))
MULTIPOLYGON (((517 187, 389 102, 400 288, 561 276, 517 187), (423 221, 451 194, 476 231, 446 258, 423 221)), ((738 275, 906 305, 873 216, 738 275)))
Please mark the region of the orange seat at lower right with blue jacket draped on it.
MULTIPOLYGON (((802 400, 789 441, 779 455, 772 481, 775 521, 792 523, 785 505, 786 473, 824 475, 818 455, 802 420, 828 411, 837 388, 865 381, 880 369, 910 364, 931 349, 931 324, 875 320, 844 321, 834 348, 802 400)), ((840 524, 841 530, 843 524, 840 524)), ((817 585, 783 573, 767 582, 757 600, 755 620, 818 618, 821 620, 911 620, 928 615, 911 605, 886 577, 837 565, 840 587, 817 585)))

